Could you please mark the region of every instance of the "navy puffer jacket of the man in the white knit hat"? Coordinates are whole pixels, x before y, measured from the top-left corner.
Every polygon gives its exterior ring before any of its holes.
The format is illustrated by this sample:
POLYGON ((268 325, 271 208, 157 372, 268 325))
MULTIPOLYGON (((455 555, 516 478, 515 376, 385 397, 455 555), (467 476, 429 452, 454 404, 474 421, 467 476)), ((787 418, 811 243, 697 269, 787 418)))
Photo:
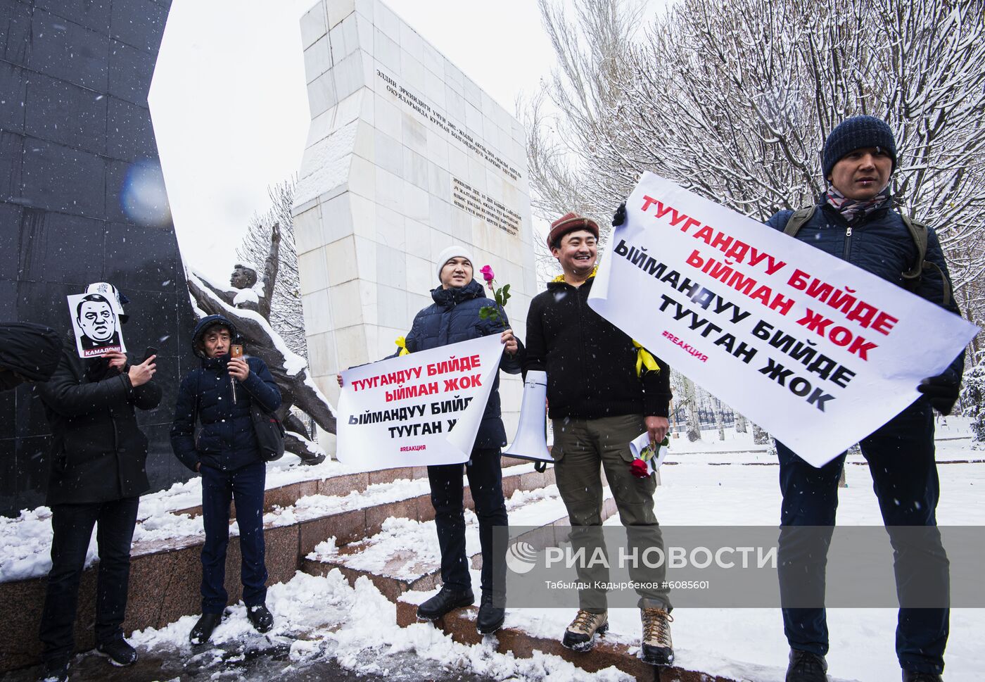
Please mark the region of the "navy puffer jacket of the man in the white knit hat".
MULTIPOLYGON (((498 320, 479 318, 480 308, 494 304, 486 298, 483 286, 475 280, 461 288, 438 287, 431 292, 431 299, 434 303, 418 312, 407 335, 407 350, 411 353, 478 339, 509 327, 509 322, 505 320, 506 327, 503 327, 498 320)), ((523 344, 519 344, 512 358, 505 354, 502 356, 499 369, 510 375, 520 374, 525 353, 523 344)), ((499 412, 499 375, 496 373, 474 447, 502 447, 505 444, 506 431, 499 412)))

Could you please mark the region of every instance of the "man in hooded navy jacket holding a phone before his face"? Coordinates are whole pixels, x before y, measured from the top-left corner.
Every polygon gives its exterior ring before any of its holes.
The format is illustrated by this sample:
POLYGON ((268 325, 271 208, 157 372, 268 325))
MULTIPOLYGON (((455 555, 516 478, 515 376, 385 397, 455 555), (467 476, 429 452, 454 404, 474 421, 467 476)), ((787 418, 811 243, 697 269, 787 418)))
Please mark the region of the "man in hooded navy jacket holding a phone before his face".
POLYGON ((181 381, 174 405, 171 447, 181 463, 202 475, 202 617, 192 628, 193 645, 208 642, 223 618, 229 595, 226 548, 230 540, 230 502, 235 501, 242 554, 240 578, 246 616, 259 632, 274 627, 265 604, 267 567, 263 539, 266 462, 250 417, 256 401, 272 413, 281 391, 259 358, 233 358, 236 329, 222 315, 203 317, 192 334, 202 367, 181 381), (202 423, 196 441, 195 421, 202 423))

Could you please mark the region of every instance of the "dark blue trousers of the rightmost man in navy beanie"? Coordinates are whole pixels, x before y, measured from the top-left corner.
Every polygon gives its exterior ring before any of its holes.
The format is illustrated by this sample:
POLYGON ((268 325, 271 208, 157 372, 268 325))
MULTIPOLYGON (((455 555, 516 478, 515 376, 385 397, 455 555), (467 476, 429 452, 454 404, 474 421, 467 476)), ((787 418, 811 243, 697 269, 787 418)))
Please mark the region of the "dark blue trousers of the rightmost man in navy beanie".
MULTIPOLYGON (((934 457, 934 416, 930 402, 920 398, 885 426, 859 443, 869 462, 873 489, 879 500, 886 526, 936 526, 940 483, 934 457)), ((838 479, 845 463, 845 453, 820 469, 808 464, 777 441, 780 460, 780 490, 783 506, 781 526, 833 526, 838 507, 838 479)), ((939 586, 947 590, 949 567, 944 548, 934 548, 937 561, 918 562, 917 573, 911 564, 914 553, 921 551, 897 541, 889 532, 893 547, 893 570, 897 591, 912 589, 914 584, 939 586)), ((822 602, 826 546, 820 555, 811 554, 816 543, 799 544, 796 532, 780 531, 779 576, 781 600, 784 583, 795 581, 807 587, 822 602)), ((815 536, 817 537, 817 536, 815 536)), ((830 535, 827 536, 828 541, 830 535)), ((926 550, 926 547, 923 548, 926 550)), ((907 670, 941 673, 944 649, 948 644, 950 610, 946 608, 900 608, 896 625, 896 656, 907 670)), ((791 648, 827 653, 827 622, 823 608, 783 609, 783 630, 791 648)))

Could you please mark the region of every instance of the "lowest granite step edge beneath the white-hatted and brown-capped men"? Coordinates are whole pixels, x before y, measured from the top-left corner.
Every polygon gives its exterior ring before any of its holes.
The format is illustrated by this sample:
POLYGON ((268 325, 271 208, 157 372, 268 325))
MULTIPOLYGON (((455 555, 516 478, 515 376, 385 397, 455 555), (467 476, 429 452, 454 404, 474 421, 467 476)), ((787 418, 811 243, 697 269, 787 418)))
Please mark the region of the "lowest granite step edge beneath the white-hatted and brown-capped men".
MULTIPOLYGON (((406 628, 418 621, 418 597, 425 596, 418 592, 405 595, 397 600, 397 625, 406 628)), ((445 617, 434 621, 434 626, 455 642, 463 645, 478 645, 483 643, 484 636, 476 630, 476 615, 479 609, 470 606, 456 609, 445 617)), ((507 613, 508 618, 508 613, 507 613)), ((485 636, 487 641, 495 643, 495 649, 500 653, 512 653, 517 658, 530 658, 534 651, 550 653, 578 666, 588 672, 598 672, 610 666, 615 666, 624 673, 632 675, 636 680, 663 680, 664 682, 735 682, 728 677, 709 675, 707 673, 685 670, 679 667, 655 668, 644 663, 637 657, 638 647, 624 643, 607 642, 605 637, 596 640, 591 651, 572 651, 560 646, 560 633, 557 639, 531 635, 519 628, 505 627, 494 636, 485 636)))

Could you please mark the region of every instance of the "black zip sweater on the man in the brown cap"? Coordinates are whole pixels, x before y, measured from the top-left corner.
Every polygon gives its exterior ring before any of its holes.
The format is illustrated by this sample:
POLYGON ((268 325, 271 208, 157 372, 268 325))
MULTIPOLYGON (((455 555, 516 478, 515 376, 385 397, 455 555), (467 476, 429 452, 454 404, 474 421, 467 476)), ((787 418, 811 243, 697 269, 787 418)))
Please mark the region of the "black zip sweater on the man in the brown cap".
POLYGON ((588 307, 594 281, 551 282, 530 302, 524 369, 547 372, 551 419, 666 417, 670 368, 658 358, 660 372, 636 376, 632 339, 588 307))

